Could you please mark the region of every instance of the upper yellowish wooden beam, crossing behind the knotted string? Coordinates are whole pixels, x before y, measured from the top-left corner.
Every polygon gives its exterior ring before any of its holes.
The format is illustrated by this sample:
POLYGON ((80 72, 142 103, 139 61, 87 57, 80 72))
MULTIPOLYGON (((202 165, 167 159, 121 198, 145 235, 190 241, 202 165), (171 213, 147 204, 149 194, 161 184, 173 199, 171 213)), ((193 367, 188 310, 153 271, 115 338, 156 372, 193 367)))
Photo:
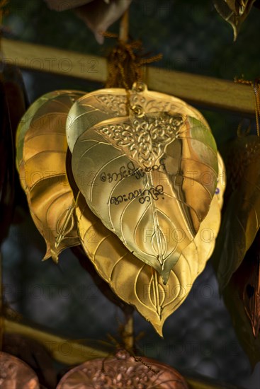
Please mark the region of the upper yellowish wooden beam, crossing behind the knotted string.
MULTIPOLYGON (((106 82, 108 71, 105 58, 4 38, 1 45, 6 61, 17 64, 21 69, 106 82)), ((145 82, 149 89, 175 95, 205 108, 254 115, 251 86, 181 71, 167 71, 155 66, 145 69, 145 82)))

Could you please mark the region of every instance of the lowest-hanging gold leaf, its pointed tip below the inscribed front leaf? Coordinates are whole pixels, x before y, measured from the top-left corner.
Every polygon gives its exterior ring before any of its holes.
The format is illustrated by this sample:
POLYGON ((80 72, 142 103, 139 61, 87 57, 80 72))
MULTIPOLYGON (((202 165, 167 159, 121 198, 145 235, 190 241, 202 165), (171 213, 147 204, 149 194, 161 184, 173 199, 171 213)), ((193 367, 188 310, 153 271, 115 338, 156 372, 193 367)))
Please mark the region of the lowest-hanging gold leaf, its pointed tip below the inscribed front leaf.
MULTIPOLYGON (((224 171, 219 156, 219 169, 224 171)), ((139 313, 152 323, 162 335, 166 318, 188 296, 196 277, 203 271, 213 252, 220 227, 220 209, 225 180, 219 180, 217 194, 210 211, 200 225, 196 238, 183 250, 179 261, 171 269, 166 285, 154 268, 133 255, 114 233, 95 216, 80 194, 76 215, 81 245, 93 262, 98 274, 126 303, 135 306, 139 313)))

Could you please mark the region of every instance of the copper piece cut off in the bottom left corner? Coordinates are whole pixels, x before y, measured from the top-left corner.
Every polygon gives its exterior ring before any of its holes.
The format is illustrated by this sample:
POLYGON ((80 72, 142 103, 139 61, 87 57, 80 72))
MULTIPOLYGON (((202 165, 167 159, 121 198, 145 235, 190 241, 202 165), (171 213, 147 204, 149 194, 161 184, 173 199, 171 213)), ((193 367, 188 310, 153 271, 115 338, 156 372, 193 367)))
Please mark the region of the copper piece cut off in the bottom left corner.
POLYGON ((11 354, 0 352, 1 389, 40 389, 38 378, 27 364, 11 354))

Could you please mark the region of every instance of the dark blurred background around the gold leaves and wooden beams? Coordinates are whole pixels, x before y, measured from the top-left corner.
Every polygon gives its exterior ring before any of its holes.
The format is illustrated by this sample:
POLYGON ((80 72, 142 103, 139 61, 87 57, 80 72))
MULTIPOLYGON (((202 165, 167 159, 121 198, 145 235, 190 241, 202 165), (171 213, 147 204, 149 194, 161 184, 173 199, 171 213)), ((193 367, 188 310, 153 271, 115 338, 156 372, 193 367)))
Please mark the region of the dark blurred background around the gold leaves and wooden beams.
MULTIPOLYGON (((9 1, 4 25, 10 37, 81 53, 105 56, 115 40, 98 45, 94 35, 73 11, 50 11, 43 0, 9 1)), ((260 10, 253 8, 237 42, 232 28, 215 11, 213 1, 134 0, 130 7, 130 35, 140 38, 147 52, 162 52, 153 66, 233 80, 260 76, 260 10)), ((109 28, 118 33, 119 23, 109 28)), ((23 71, 30 103, 55 89, 93 91, 101 84, 35 71, 23 71)), ((200 108, 200 107, 198 107, 200 108)), ((202 110, 220 150, 235 137, 239 115, 202 110)), ((21 210, 20 210, 21 211, 21 210)), ((119 308, 96 289, 70 250, 60 264, 41 262, 45 244, 29 214, 11 226, 2 247, 5 297, 24 317, 50 327, 65 337, 106 339, 115 335, 119 308)), ((139 347, 147 356, 171 364, 181 372, 203 374, 260 388, 260 364, 251 366, 232 329, 230 316, 217 290, 208 263, 183 305, 164 325, 164 339, 135 313, 135 333, 145 332, 139 347)))

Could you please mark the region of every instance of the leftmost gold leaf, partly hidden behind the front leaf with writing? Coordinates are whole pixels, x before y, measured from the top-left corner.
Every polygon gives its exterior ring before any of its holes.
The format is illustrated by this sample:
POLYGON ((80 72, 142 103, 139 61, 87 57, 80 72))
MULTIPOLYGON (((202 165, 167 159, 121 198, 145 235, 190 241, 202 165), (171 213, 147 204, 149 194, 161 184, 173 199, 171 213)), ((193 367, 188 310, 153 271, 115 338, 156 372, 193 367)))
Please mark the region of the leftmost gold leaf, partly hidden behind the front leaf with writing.
POLYGON ((62 250, 79 245, 66 173, 65 124, 69 109, 82 94, 47 93, 30 106, 18 126, 16 165, 30 214, 47 245, 44 260, 52 257, 57 262, 62 250))

